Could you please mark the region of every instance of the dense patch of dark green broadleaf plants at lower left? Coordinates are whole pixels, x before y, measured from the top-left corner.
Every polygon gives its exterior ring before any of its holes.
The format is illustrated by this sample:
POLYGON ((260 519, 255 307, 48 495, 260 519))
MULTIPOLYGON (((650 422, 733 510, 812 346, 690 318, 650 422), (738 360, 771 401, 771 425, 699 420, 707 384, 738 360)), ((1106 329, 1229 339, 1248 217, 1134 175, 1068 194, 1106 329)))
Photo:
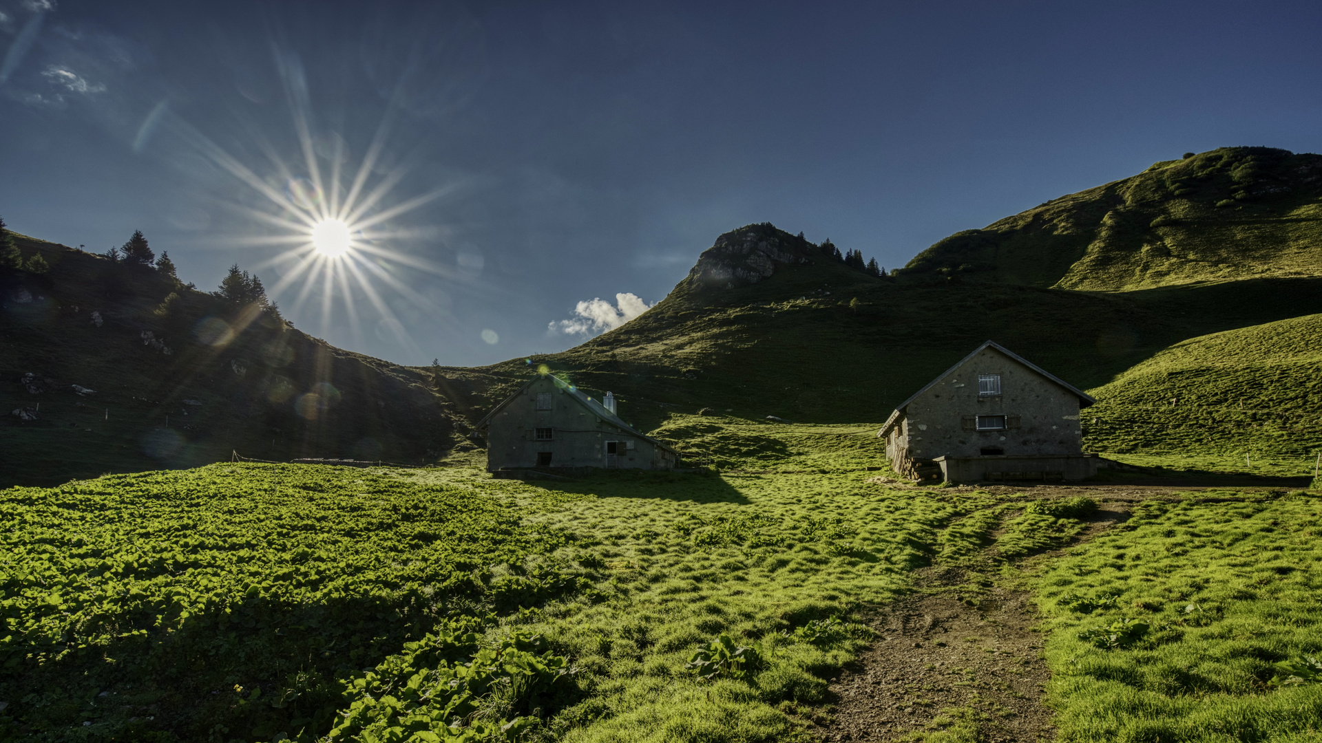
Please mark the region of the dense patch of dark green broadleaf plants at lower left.
POLYGON ((108 476, 0 490, 0 731, 32 740, 70 730, 87 740, 316 740, 348 724, 337 711, 356 690, 379 711, 373 690, 398 685, 401 662, 446 653, 469 693, 449 697, 455 709, 494 691, 512 699, 444 721, 484 731, 473 726, 533 714, 522 701, 542 681, 521 691, 521 680, 564 664, 518 637, 479 644, 436 628, 591 586, 580 571, 529 562, 568 545, 563 530, 472 492, 357 469, 108 476), (402 650, 403 661, 383 660, 402 650), (378 668, 371 681, 365 668, 378 668))

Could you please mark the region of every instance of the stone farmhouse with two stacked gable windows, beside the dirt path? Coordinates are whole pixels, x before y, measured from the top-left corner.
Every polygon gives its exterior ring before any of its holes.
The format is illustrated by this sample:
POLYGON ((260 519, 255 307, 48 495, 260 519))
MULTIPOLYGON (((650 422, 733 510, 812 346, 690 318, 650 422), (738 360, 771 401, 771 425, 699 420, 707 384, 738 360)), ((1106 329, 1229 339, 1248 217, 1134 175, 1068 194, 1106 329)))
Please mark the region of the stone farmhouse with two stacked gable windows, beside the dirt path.
POLYGON ((1096 401, 986 341, 900 403, 878 436, 899 475, 948 483, 1081 480, 1079 410, 1096 401))

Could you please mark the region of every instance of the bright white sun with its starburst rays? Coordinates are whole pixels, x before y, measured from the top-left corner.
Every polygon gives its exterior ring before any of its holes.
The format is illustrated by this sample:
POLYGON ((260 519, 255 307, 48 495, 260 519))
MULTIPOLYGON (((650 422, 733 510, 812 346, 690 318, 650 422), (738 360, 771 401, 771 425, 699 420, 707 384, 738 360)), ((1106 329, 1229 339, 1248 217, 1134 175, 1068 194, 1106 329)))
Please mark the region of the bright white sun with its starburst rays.
MULTIPOLYGON (((407 175, 403 167, 383 167, 394 102, 385 106, 375 135, 357 168, 349 168, 348 144, 338 132, 313 126, 303 69, 288 56, 276 56, 286 99, 293 119, 297 147, 282 156, 268 140, 258 143, 266 167, 246 164, 197 128, 176 120, 185 139, 201 153, 260 196, 256 205, 230 201, 233 209, 267 230, 264 235, 225 238, 226 245, 275 249, 254 270, 274 270, 278 280, 267 290, 272 299, 291 301, 297 317, 309 301, 320 305, 321 334, 348 324, 354 341, 362 340, 360 300, 375 315, 375 331, 398 341, 411 356, 422 349, 397 316, 410 305, 428 317, 448 315, 436 301, 410 284, 419 271, 446 280, 446 290, 473 284, 473 276, 427 258, 405 253, 402 241, 436 238, 442 229, 402 226, 401 218, 455 190, 456 184, 398 197, 394 192, 407 175), (259 175, 266 171, 264 175, 259 175), (402 300, 402 301, 401 301, 402 300)), ((251 201, 251 200, 243 200, 251 201)), ((439 290, 434 290, 439 291, 439 290)), ((369 317, 370 319, 370 317, 369 317)))

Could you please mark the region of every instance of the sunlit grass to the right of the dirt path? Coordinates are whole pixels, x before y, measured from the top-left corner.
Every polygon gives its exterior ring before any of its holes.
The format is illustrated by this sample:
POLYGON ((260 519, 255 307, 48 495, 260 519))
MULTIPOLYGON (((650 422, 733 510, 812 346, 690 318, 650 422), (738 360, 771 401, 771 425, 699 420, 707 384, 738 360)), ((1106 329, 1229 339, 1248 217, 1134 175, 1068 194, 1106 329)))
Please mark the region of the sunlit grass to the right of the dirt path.
MULTIPOLYGON (((1223 492, 1147 502, 1124 529, 1043 563, 1050 698, 1063 740, 1307 740, 1322 686, 1274 664, 1322 649, 1315 494, 1223 492), (1077 596, 1114 598, 1083 613, 1077 596), (1149 625, 1120 649, 1079 637, 1149 625)), ((1085 604, 1087 608, 1091 606, 1085 604)))

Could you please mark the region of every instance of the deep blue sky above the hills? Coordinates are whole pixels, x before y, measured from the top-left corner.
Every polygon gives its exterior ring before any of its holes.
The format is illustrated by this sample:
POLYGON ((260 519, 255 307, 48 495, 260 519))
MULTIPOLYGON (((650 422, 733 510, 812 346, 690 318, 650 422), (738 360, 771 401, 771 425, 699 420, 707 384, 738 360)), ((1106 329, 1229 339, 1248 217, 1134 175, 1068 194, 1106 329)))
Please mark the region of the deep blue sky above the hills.
POLYGON ((572 346, 594 332, 579 303, 600 329, 616 295, 656 303, 750 222, 892 267, 1186 151, 1322 136, 1310 3, 0 13, 12 229, 97 253, 140 229, 205 290, 238 262, 299 328, 406 364, 572 346), (291 276, 291 200, 317 208, 315 165, 342 201, 374 141, 361 194, 389 188, 360 215, 362 283, 291 276))

